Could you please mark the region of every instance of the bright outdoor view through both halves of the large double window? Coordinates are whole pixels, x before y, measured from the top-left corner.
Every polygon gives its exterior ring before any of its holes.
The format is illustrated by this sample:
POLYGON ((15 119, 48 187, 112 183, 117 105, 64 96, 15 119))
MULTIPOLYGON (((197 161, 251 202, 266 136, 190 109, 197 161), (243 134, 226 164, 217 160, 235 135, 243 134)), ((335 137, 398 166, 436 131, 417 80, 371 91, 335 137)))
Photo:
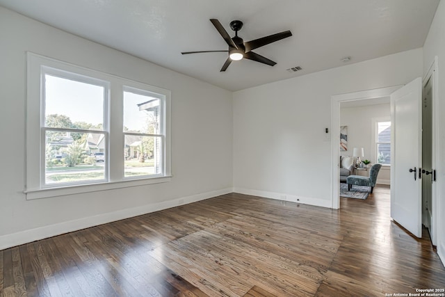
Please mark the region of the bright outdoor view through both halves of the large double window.
MULTIPOLYGON (((69 76, 68 76, 69 77, 69 76)), ((44 74, 45 184, 107 180, 107 87, 44 74)), ((124 87, 124 177, 162 173, 161 99, 124 87)), ((122 134, 121 134, 122 135, 122 134)))

